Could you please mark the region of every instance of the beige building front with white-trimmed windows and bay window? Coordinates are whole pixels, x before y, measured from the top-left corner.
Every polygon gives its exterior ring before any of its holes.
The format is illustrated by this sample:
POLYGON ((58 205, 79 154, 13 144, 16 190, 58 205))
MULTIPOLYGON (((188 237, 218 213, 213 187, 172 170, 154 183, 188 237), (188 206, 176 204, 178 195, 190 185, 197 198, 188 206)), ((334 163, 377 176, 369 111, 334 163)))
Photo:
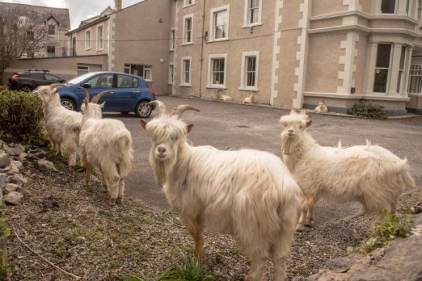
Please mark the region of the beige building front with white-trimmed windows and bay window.
MULTIPOLYGON (((416 0, 172 1, 169 83, 177 96, 348 112, 361 100, 407 113, 416 0)), ((421 89, 418 89, 420 91, 421 89)))

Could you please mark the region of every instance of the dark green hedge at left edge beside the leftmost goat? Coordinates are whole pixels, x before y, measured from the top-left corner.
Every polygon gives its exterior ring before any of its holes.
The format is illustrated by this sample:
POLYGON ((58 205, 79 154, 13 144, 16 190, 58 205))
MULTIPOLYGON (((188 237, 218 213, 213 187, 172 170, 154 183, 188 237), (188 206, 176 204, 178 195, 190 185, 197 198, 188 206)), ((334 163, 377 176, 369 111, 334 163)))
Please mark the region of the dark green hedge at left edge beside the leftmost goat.
POLYGON ((49 144, 41 101, 32 93, 0 91, 0 135, 4 141, 45 147, 49 144))

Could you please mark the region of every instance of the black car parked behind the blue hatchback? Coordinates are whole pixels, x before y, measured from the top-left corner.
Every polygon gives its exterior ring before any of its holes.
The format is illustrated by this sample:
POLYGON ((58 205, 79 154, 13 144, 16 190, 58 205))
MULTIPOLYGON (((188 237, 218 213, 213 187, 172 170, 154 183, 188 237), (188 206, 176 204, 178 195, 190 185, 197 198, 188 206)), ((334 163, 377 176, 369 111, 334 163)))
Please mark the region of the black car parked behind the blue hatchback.
POLYGON ((15 73, 8 79, 8 87, 11 90, 32 91, 38 86, 65 82, 65 79, 48 72, 49 70, 25 70, 15 73))

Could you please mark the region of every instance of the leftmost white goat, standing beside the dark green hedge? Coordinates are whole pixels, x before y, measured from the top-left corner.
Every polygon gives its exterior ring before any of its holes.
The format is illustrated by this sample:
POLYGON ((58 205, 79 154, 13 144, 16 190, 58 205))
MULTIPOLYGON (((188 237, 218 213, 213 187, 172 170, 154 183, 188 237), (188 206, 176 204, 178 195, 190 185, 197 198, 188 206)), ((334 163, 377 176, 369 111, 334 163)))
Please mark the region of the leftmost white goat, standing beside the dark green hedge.
POLYGON ((69 166, 75 166, 79 131, 82 125, 82 113, 68 110, 60 103, 56 87, 63 84, 39 86, 37 96, 41 100, 44 112, 44 124, 56 154, 69 153, 69 166))

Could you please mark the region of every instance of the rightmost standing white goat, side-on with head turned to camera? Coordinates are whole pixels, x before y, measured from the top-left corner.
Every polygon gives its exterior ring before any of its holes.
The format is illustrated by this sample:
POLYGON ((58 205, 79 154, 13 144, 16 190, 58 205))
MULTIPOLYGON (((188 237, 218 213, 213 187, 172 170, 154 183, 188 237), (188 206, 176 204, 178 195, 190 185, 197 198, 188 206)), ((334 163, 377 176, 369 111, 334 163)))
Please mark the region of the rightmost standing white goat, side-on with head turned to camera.
POLYGON ((312 119, 295 112, 280 119, 283 160, 302 189, 302 216, 297 229, 312 223, 320 197, 338 202, 361 202, 364 211, 381 218, 381 209, 395 213, 405 186, 416 188, 407 159, 399 159, 378 145, 328 148, 307 133, 312 119))

